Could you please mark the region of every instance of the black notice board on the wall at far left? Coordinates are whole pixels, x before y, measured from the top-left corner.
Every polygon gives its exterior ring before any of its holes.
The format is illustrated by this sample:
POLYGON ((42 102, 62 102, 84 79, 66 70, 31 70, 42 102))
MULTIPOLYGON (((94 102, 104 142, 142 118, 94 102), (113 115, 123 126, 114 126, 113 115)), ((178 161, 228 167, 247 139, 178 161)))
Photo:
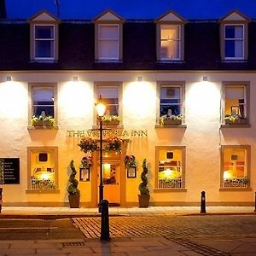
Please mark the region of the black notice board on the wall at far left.
POLYGON ((20 158, 0 158, 0 184, 20 184, 20 158))

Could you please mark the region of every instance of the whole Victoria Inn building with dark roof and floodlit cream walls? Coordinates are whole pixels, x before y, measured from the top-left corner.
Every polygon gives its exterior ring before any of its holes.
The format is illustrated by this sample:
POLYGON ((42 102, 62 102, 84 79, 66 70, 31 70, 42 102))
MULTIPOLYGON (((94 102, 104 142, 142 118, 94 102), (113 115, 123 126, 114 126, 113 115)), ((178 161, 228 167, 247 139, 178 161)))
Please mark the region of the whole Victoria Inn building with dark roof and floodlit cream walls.
MULTIPOLYGON (((7 1, 8 2, 8 1, 7 1)), ((3 9, 6 7, 1 2, 3 9)), ((29 7, 28 7, 29 8, 29 7)), ((170 9, 150 20, 104 9, 68 20, 48 10, 0 20, 0 187, 4 206, 67 206, 71 160, 80 206, 96 207, 95 104, 107 104, 104 198, 138 205, 143 160, 151 206, 252 206, 256 190, 256 21, 230 10, 189 20, 170 9), (34 119, 51 116, 53 124, 34 119), (118 118, 117 118, 118 117, 118 118), (109 121, 109 120, 108 120, 109 121), (125 166, 125 156, 136 165, 125 166), (81 160, 91 157, 89 166, 81 160)))

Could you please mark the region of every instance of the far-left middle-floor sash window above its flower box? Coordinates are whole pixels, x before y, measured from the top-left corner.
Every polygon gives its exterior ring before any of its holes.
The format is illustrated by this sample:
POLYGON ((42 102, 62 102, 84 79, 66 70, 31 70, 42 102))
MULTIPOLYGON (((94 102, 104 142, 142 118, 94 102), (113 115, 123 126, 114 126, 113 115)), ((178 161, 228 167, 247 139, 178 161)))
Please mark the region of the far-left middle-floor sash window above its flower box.
POLYGON ((55 86, 32 86, 32 115, 55 118, 55 86))

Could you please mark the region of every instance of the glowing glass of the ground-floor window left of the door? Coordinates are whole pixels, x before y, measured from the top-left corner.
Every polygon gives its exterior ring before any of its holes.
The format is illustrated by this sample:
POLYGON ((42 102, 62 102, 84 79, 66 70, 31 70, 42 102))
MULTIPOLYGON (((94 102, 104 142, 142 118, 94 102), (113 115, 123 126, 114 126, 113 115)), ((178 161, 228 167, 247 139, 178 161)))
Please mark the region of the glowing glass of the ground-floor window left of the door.
POLYGON ((31 189, 55 189, 55 163, 53 151, 31 154, 31 189))

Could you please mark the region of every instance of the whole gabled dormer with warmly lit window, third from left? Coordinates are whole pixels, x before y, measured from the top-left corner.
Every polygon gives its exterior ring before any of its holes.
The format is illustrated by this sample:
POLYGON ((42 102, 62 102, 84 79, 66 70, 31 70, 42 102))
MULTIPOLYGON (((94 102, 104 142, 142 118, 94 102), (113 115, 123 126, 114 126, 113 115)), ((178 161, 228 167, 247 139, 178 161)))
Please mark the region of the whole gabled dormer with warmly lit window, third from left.
POLYGON ((183 61, 184 24, 186 22, 172 11, 155 20, 158 61, 183 61))

